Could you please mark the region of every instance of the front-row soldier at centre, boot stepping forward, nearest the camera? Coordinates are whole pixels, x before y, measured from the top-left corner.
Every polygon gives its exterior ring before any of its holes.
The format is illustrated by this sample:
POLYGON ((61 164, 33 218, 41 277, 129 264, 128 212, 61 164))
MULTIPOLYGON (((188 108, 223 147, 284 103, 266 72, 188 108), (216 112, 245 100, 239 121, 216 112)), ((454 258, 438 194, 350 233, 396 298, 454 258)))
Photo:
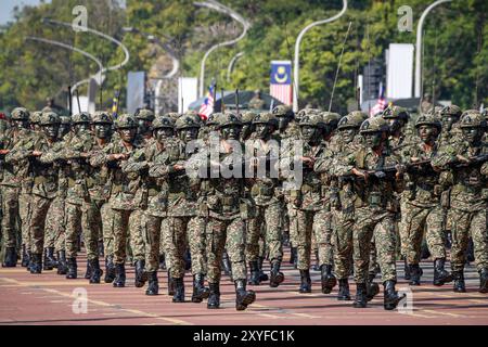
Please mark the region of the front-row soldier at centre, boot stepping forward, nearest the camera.
POLYGON ((206 231, 207 241, 207 269, 210 296, 207 307, 209 309, 220 306, 220 273, 223 248, 227 243, 229 257, 232 264, 232 280, 235 285, 235 308, 245 310, 254 303, 256 295, 246 291, 246 219, 253 214, 251 201, 244 196, 245 184, 240 166, 241 176, 223 175, 222 170, 235 170, 231 166, 243 163, 243 152, 240 139, 242 124, 233 113, 218 116, 218 129, 223 137, 219 144, 219 162, 213 163, 213 155, 205 158, 206 166, 210 168, 208 178, 208 193, 206 205, 208 207, 209 223, 206 231), (228 142, 232 140, 233 142, 228 142), (239 145, 240 149, 235 149, 239 145), (240 151, 239 151, 240 150, 240 151))

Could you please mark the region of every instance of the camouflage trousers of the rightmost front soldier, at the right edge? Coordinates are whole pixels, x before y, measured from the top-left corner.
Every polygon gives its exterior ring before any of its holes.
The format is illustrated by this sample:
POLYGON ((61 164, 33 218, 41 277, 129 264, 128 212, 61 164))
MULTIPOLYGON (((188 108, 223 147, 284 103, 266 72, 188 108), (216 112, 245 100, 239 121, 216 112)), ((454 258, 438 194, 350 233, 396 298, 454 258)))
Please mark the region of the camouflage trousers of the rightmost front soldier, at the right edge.
POLYGON ((471 211, 451 207, 452 219, 451 269, 460 271, 466 262, 468 237, 473 239, 477 270, 488 269, 488 204, 471 211))

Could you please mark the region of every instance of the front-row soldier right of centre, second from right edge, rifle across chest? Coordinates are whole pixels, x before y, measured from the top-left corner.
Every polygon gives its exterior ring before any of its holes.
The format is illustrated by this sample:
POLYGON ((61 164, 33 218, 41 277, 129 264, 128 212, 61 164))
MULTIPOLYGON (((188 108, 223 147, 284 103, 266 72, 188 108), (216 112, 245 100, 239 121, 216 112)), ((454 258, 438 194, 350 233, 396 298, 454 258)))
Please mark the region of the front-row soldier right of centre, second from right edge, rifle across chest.
MULTIPOLYGON (((337 168, 337 174, 365 175, 364 170, 382 169, 398 164, 398 158, 391 156, 390 149, 385 143, 388 125, 383 118, 365 120, 360 131, 365 145, 361 145, 358 152, 345 157, 337 168)), ((374 235, 385 287, 384 308, 391 310, 400 300, 395 292, 397 273, 394 226, 395 213, 398 211, 394 192, 400 188, 397 187, 395 178, 388 175, 383 177, 381 174, 378 176, 372 174, 365 180, 355 180, 358 184, 352 229, 355 281, 358 288, 355 307, 367 306, 370 247, 374 235)))

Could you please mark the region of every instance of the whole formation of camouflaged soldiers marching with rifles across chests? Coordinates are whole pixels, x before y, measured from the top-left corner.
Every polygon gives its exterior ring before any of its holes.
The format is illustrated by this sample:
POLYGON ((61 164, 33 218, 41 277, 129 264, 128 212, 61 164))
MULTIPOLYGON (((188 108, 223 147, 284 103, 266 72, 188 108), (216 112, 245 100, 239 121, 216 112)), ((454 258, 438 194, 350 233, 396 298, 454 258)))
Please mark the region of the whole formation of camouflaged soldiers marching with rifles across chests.
POLYGON ((146 295, 167 269, 168 295, 184 303, 191 271, 191 301, 216 309, 226 272, 245 310, 256 299, 248 286, 285 281, 291 246, 299 293, 311 292, 317 259, 322 293, 338 285, 337 299, 351 300, 354 277, 352 305, 363 308, 381 273, 393 310, 397 259, 420 285, 427 249, 434 285, 462 293, 472 241, 488 293, 487 129, 486 115, 454 105, 415 118, 394 105, 372 118, 278 106, 206 120, 15 108, 0 120, 2 266, 76 279, 82 243, 90 284, 124 287, 130 261, 146 295))

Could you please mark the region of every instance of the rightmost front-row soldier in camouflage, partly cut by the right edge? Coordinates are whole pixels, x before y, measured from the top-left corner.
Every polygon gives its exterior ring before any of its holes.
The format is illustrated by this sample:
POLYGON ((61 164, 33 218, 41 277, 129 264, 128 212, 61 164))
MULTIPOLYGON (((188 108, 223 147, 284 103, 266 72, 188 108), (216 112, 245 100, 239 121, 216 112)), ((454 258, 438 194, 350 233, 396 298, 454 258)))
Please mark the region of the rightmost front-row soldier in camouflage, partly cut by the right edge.
POLYGON ((450 172, 452 179, 451 209, 452 220, 451 269, 454 277, 454 292, 465 292, 464 264, 467 240, 474 242, 476 268, 480 275, 481 293, 488 292, 488 237, 487 209, 488 145, 481 142, 486 119, 477 111, 466 111, 460 123, 463 143, 447 145, 433 159, 435 167, 450 172), (485 155, 484 160, 473 157, 485 155), (485 162, 485 163, 484 163, 485 162))

